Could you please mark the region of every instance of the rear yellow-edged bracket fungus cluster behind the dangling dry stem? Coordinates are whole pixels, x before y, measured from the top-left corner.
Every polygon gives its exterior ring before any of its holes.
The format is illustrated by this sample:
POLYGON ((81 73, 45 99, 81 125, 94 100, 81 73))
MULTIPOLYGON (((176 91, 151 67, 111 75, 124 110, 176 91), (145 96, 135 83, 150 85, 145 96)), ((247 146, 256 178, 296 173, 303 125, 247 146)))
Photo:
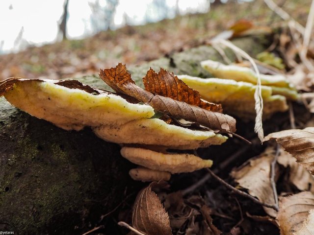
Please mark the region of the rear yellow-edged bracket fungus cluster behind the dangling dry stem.
MULTIPOLYGON (((202 98, 210 102, 221 103, 224 110, 240 118, 253 119, 255 113, 254 93, 257 89, 257 74, 250 68, 237 65, 224 65, 206 60, 201 66, 209 71, 213 78, 178 75, 188 86, 199 91, 202 98)), ((276 112, 288 110, 287 100, 299 99, 297 90, 282 74, 261 74, 263 98, 263 118, 269 118, 276 112)))

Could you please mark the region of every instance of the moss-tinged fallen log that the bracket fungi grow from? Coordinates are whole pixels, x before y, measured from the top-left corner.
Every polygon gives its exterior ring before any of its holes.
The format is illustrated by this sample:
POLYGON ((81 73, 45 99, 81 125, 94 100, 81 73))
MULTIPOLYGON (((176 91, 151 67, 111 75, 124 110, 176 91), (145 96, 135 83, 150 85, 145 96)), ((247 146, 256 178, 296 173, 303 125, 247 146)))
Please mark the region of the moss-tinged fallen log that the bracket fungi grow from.
MULTIPOLYGON (((242 38, 235 44, 256 55, 266 47, 262 42, 267 40, 259 40, 242 38)), ((234 57, 230 51, 228 55, 234 57)), ((141 78, 150 67, 206 77, 209 74, 199 63, 206 59, 222 60, 212 47, 201 46, 129 69, 142 86, 141 78)), ((77 79, 108 89, 97 75, 77 79)), ((98 139, 89 128, 62 130, 0 98, 0 231, 19 235, 86 231, 87 224, 123 200, 126 187, 129 193, 138 190, 128 175, 133 165, 119 151, 119 145, 98 139)))

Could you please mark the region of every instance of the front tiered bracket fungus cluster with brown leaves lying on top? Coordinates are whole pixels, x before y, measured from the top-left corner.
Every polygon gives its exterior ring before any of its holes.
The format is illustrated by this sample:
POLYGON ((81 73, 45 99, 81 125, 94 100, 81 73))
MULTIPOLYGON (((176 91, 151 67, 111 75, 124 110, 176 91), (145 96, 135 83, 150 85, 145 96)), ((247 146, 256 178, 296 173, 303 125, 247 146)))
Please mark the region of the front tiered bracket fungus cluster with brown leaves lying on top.
POLYGON ((135 85, 122 64, 101 71, 100 77, 116 94, 76 80, 13 77, 0 83, 0 96, 4 95, 12 105, 30 115, 65 130, 78 131, 88 126, 105 141, 128 144, 131 147, 123 147, 122 155, 148 168, 130 171, 137 180, 169 180, 169 172, 191 172, 210 167, 212 162, 191 154, 161 154, 132 148, 133 145, 196 149, 222 144, 228 139, 217 132, 235 132, 235 119, 222 114, 220 104, 202 100, 197 91, 169 71, 148 71, 143 78, 146 90, 135 85), (153 86, 154 82, 164 82, 167 86, 153 86), (157 112, 172 123, 157 118, 157 112), (175 118, 196 122, 197 127, 174 123, 175 118), (147 154, 146 158, 143 154, 147 154))

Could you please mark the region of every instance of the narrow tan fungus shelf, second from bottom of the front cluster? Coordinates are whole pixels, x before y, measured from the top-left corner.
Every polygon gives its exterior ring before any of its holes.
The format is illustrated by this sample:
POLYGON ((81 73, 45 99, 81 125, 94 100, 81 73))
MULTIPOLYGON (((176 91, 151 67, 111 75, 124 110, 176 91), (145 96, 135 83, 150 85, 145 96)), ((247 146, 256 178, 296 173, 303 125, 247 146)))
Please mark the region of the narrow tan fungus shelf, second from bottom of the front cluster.
POLYGON ((212 165, 211 160, 193 154, 163 154, 144 148, 123 147, 121 155, 134 164, 172 174, 192 172, 212 165))

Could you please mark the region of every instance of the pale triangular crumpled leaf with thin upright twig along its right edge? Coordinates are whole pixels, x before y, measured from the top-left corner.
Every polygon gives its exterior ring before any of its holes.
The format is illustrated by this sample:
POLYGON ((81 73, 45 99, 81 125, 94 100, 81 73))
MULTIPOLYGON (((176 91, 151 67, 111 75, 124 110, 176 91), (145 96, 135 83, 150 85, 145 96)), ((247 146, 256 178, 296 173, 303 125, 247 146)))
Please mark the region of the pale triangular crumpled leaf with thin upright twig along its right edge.
MULTIPOLYGON (((261 202, 274 205, 274 192, 270 181, 270 164, 274 155, 272 151, 265 151, 257 158, 249 160, 239 168, 231 172, 235 182, 240 187, 248 189, 249 193, 257 197, 261 202)), ((264 207, 264 210, 271 216, 276 216, 276 211, 264 207)))

